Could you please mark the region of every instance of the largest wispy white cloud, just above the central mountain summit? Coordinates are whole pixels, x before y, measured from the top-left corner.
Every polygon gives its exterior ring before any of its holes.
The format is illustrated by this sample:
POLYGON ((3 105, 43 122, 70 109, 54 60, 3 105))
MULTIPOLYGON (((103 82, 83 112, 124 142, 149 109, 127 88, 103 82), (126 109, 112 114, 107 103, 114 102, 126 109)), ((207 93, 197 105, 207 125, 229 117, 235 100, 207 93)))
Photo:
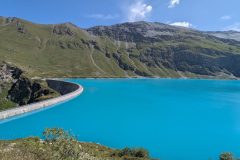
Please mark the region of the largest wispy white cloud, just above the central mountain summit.
POLYGON ((152 9, 153 7, 151 5, 145 4, 142 0, 137 0, 129 7, 128 21, 135 22, 145 20, 152 9))

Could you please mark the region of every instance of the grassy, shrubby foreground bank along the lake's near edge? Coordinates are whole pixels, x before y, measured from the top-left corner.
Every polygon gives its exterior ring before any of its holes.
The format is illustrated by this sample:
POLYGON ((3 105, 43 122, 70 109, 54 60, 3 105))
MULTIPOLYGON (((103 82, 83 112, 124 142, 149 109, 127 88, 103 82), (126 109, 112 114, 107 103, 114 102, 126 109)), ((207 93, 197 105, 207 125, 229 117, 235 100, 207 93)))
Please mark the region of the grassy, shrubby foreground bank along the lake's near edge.
POLYGON ((43 139, 0 141, 1 160, 150 160, 148 151, 111 149, 95 143, 79 142, 62 129, 46 129, 43 139))

